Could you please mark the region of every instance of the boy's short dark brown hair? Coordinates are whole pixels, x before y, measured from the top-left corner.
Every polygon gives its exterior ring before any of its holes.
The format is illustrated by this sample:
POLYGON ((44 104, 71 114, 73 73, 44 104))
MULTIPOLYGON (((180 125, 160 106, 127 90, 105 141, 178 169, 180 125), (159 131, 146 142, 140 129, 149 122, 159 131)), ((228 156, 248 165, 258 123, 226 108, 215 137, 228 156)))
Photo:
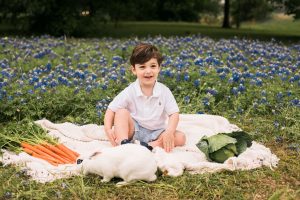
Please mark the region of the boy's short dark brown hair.
POLYGON ((130 64, 134 67, 135 64, 143 64, 151 58, 156 58, 159 65, 163 60, 163 57, 154 45, 141 43, 133 49, 130 64))

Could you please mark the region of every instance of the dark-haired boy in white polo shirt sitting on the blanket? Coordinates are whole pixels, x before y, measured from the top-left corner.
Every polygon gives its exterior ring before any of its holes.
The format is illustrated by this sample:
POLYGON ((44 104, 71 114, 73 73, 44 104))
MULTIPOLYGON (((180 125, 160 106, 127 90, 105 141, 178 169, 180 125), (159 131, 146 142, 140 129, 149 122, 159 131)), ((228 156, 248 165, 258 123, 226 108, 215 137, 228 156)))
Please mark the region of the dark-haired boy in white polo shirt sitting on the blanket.
POLYGON ((137 79, 114 98, 104 116, 105 133, 113 146, 139 140, 149 150, 159 146, 170 152, 185 144, 184 133, 176 130, 179 108, 175 98, 157 82, 162 60, 153 45, 139 44, 133 49, 130 64, 137 79))

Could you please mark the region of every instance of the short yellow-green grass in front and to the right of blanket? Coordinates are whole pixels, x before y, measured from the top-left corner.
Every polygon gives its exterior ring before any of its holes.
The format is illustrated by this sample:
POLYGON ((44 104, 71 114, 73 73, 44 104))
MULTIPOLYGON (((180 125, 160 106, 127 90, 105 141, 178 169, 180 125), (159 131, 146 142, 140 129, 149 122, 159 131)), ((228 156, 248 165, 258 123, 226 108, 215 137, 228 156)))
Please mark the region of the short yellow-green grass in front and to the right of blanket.
MULTIPOLYGON (((299 120, 297 113, 295 110, 290 113, 290 117, 299 120)), ((288 137, 284 137, 282 142, 275 142, 273 120, 273 117, 251 115, 230 119, 252 135, 256 131, 263 133, 257 133, 256 140, 280 158, 278 168, 274 170, 264 167, 202 175, 185 172, 176 178, 159 174, 153 183, 136 182, 117 188, 115 183, 118 179, 101 183, 100 177, 96 175, 76 176, 42 184, 30 180, 16 167, 1 166, 0 199, 299 199, 299 152, 288 148, 288 137), (250 127, 255 127, 255 130, 250 127)), ((282 135, 285 130, 277 132, 282 135)))

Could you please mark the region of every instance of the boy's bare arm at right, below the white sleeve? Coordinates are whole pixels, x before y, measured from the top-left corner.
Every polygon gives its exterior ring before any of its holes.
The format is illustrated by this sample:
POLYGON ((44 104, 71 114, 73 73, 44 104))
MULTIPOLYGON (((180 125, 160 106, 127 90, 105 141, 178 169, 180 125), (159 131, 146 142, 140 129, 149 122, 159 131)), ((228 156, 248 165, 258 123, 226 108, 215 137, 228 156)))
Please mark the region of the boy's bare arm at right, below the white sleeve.
POLYGON ((168 126, 163 133, 163 146, 166 152, 170 152, 175 146, 175 132, 179 121, 179 113, 173 113, 169 116, 168 126))

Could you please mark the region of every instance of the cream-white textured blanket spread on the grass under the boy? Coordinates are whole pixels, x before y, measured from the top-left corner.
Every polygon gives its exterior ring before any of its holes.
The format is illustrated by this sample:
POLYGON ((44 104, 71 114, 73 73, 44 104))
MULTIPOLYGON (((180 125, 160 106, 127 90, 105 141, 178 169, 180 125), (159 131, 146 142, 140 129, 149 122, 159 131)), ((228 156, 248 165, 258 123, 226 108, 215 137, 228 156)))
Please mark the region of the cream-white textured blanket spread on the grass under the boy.
MULTIPOLYGON (((58 138, 61 143, 83 157, 90 155, 93 151, 111 147, 103 126, 96 124, 78 126, 68 122, 55 124, 46 119, 36 121, 36 123, 48 130, 49 135, 58 138)), ((153 150, 159 169, 169 176, 180 176, 184 170, 202 174, 221 170, 249 170, 262 166, 272 169, 277 166, 279 161, 269 148, 253 142, 245 152, 238 157, 229 158, 223 164, 209 162, 195 144, 204 135, 211 136, 240 130, 239 127, 230 124, 226 118, 221 116, 181 114, 177 129, 186 134, 185 146, 176 147, 170 153, 166 153, 159 147, 153 150)), ((39 182, 49 182, 81 173, 77 164, 63 164, 55 167, 25 152, 18 155, 6 150, 2 150, 2 152, 0 161, 4 165, 21 166, 28 175, 39 182)))

